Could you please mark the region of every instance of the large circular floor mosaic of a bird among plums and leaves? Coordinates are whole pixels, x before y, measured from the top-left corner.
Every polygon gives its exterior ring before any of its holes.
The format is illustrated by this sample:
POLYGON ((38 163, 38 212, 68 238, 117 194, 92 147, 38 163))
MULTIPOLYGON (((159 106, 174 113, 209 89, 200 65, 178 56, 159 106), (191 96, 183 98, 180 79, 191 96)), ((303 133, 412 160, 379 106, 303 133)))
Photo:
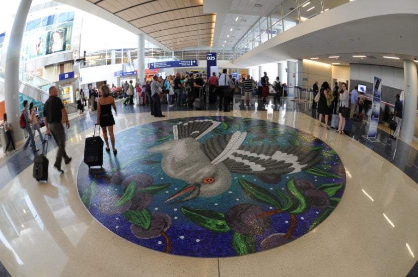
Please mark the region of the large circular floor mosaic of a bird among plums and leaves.
POLYGON ((195 257, 271 249, 314 229, 345 188, 339 156, 318 138, 234 117, 159 121, 116 134, 103 170, 80 165, 88 211, 116 235, 195 257))

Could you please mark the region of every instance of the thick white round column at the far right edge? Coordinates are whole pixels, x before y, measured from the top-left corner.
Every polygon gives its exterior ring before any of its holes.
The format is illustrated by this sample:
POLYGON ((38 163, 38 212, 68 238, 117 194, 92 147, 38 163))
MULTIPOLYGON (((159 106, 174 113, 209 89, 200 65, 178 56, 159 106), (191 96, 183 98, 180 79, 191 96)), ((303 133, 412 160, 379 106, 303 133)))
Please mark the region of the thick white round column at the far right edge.
POLYGON ((400 137, 406 142, 412 142, 416 120, 416 101, 418 100, 418 76, 413 61, 403 61, 405 100, 400 137))

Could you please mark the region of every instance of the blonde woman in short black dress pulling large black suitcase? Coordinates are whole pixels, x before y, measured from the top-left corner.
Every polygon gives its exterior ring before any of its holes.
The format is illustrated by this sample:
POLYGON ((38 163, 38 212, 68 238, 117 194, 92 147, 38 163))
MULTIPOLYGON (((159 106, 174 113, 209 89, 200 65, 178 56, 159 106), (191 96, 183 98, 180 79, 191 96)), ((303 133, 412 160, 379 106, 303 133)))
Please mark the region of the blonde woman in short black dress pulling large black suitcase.
POLYGON ((97 125, 102 127, 103 138, 106 142, 106 151, 110 152, 109 141, 107 139, 107 130, 109 130, 110 143, 112 144, 113 154, 116 155, 117 150, 115 148, 115 135, 113 134, 113 125, 115 125, 115 120, 112 115, 112 107, 115 110, 115 115, 117 115, 115 100, 110 96, 109 87, 106 84, 103 84, 100 87, 102 97, 97 101, 97 125), (107 127, 107 128, 106 128, 107 127))

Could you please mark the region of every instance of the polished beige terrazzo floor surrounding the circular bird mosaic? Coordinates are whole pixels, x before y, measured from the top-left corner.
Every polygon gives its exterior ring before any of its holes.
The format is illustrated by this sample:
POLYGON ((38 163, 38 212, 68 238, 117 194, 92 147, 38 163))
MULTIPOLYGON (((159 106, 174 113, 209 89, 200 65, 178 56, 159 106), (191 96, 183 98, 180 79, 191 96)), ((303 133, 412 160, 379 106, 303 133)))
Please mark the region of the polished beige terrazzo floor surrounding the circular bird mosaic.
MULTIPOLYGON (((280 247, 224 258, 166 254, 115 235, 88 212, 77 189, 84 140, 92 135, 95 123, 95 114, 86 113, 73 118, 67 131, 73 161, 63 174, 51 165, 48 183, 32 178, 30 151, 3 157, 0 261, 12 276, 407 275, 418 253, 416 149, 396 140, 389 151, 384 132, 381 146, 368 145, 355 135, 362 126, 354 127, 358 131, 353 136, 320 128, 304 104, 285 102, 279 109, 257 106, 247 110, 238 97, 230 113, 176 111, 166 106, 163 113, 164 120, 228 116, 284 124, 329 145, 345 167, 346 186, 335 210, 312 231, 280 247)), ((151 117, 146 107, 118 103, 118 109, 118 133, 161 121, 151 117)), ((51 143, 48 157, 55 154, 51 143)))

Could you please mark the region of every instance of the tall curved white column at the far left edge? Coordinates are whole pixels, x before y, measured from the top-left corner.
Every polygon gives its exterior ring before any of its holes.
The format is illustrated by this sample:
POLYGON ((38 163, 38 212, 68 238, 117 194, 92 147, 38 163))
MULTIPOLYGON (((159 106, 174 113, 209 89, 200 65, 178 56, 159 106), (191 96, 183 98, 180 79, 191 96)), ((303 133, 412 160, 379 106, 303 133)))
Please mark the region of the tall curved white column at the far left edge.
POLYGON ((22 0, 20 2, 13 22, 12 31, 10 32, 9 46, 6 54, 5 106, 8 121, 15 127, 13 128, 13 136, 17 143, 25 138, 23 130, 18 128, 20 116, 19 62, 23 32, 25 31, 26 18, 28 17, 31 4, 32 0, 22 0))

